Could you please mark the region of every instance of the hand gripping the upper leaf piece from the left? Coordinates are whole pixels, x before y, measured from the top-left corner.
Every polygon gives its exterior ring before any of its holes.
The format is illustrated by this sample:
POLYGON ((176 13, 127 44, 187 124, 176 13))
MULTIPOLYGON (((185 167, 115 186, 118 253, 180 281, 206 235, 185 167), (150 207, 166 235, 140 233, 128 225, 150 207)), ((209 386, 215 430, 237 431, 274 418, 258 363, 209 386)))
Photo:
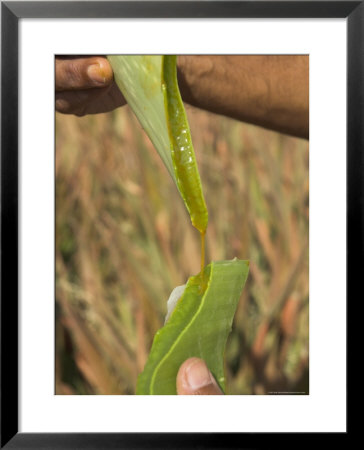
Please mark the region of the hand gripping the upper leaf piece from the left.
POLYGON ((112 111, 126 101, 103 56, 56 56, 56 111, 96 114, 112 111))

